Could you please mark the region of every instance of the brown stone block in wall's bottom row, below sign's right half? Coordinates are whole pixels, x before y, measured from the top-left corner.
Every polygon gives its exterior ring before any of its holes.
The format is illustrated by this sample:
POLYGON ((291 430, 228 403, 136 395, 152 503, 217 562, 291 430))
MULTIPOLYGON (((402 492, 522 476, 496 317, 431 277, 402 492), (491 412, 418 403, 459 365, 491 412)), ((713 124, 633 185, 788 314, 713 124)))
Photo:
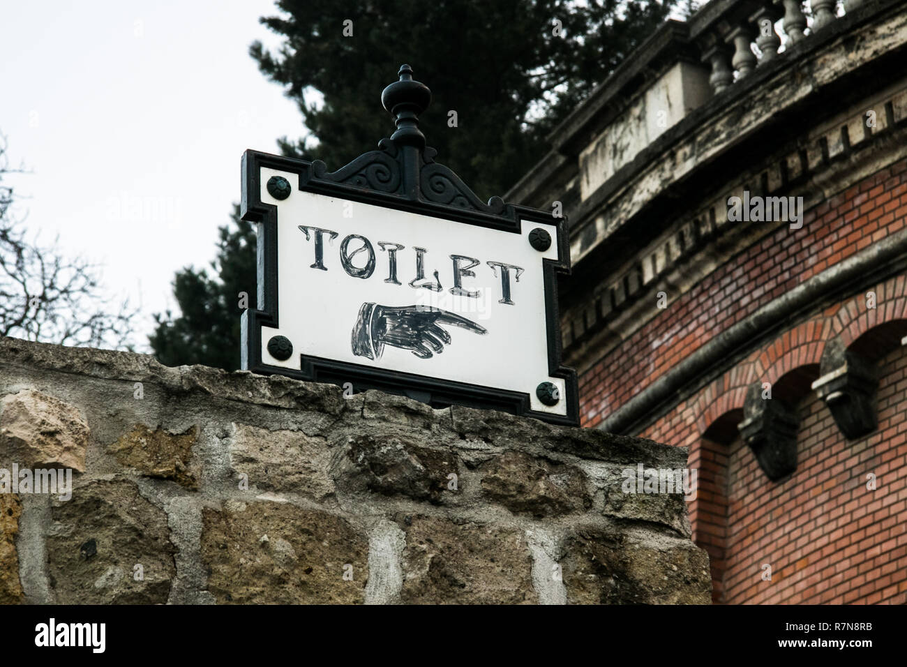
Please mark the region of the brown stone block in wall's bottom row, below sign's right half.
POLYGON ((536 603, 522 530, 422 516, 403 527, 404 603, 536 603))

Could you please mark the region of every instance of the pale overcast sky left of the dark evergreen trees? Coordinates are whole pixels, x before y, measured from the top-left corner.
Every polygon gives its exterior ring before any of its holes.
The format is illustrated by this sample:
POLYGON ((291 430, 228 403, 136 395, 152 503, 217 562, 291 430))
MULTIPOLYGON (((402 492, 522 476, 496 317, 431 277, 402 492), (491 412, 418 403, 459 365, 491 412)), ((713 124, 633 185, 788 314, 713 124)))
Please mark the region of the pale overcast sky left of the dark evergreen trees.
MULTIPOLYGON (((239 201, 239 158, 305 130, 249 44, 272 0, 5 3, 0 132, 29 231, 103 264, 144 314, 176 309, 171 280, 207 266, 239 201)), ((376 111, 380 106, 375 92, 376 111)), ((370 146, 368 148, 371 148, 370 146)))

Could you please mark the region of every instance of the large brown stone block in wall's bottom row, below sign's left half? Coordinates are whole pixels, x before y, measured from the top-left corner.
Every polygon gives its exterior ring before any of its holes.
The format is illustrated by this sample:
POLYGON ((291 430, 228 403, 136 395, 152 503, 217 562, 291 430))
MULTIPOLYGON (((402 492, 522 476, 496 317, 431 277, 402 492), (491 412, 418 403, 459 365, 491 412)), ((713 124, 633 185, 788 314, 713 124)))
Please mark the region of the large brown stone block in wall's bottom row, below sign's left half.
POLYGON ((364 601, 368 540, 327 512, 268 501, 206 507, 201 558, 221 604, 364 601))

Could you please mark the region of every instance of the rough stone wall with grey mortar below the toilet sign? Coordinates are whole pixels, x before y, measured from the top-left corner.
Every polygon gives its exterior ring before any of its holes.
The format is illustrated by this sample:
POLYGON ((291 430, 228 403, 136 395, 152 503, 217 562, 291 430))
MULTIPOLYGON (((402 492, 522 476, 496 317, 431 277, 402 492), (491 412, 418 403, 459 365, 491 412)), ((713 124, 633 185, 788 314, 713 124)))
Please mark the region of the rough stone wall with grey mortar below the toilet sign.
POLYGON ((708 603, 684 496, 621 488, 627 468, 686 460, 491 411, 0 338, 0 468, 73 470, 69 499, 0 494, 0 602, 708 603))

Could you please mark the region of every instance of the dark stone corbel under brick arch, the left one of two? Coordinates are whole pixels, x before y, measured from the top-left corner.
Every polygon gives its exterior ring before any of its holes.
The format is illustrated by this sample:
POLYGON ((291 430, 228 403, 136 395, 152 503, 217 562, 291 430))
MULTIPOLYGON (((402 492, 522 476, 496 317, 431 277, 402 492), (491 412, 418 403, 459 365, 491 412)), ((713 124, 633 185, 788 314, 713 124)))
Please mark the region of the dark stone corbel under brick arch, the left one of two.
POLYGON ((759 467, 773 482, 796 469, 796 432, 800 420, 778 398, 763 398, 762 385, 746 390, 744 419, 737 428, 753 451, 759 467))

